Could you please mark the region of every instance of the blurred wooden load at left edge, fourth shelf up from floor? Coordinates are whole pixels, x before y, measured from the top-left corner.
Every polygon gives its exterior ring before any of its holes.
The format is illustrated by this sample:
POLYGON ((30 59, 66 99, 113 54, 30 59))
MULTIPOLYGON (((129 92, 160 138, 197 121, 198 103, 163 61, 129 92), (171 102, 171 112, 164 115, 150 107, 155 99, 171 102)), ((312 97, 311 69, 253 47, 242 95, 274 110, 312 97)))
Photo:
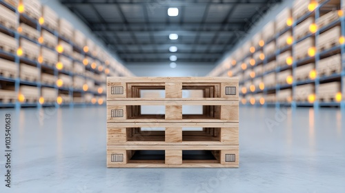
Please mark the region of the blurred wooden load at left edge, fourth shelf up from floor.
POLYGON ((10 28, 12 30, 17 30, 18 28, 18 17, 9 8, 0 4, 0 24, 5 26, 6 28, 10 28))

